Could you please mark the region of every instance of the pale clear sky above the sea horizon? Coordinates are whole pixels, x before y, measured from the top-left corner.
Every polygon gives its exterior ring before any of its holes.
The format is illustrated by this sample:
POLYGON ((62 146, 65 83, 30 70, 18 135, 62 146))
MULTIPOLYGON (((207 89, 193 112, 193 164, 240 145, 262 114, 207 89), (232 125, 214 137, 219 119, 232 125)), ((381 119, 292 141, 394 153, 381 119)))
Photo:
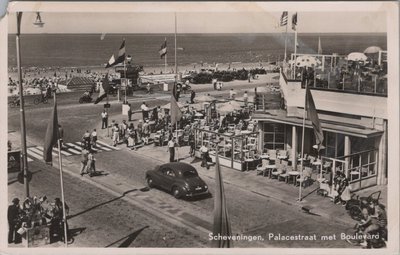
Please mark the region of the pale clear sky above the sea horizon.
MULTIPOLYGON (((289 11, 288 30, 291 29, 289 11)), ((178 33, 279 33, 277 26, 282 12, 267 11, 181 11, 177 13, 178 33)), ((174 33, 174 13, 163 12, 102 12, 63 13, 41 12, 45 25, 32 23, 36 14, 24 12, 22 33, 174 33)), ((16 31, 15 13, 10 13, 9 33, 16 31)), ((370 11, 305 11, 298 12, 299 33, 385 33, 386 13, 370 11)))

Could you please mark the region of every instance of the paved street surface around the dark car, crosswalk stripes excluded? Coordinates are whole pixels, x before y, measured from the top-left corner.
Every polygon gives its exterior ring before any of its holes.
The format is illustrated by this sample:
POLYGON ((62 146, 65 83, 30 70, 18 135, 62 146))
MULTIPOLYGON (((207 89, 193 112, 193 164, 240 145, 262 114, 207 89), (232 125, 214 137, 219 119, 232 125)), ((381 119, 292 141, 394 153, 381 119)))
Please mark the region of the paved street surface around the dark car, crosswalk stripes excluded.
MULTIPOLYGON (((243 85, 241 88, 248 88, 243 85)), ((227 93, 228 90, 225 91, 227 93)), ((210 92, 213 95, 215 92, 210 92)), ((86 130, 99 128, 103 105, 73 103, 73 94, 58 98, 59 123, 64 128, 64 142, 80 141, 86 130)), ((76 98, 77 95, 75 94, 76 98)), ((146 101, 149 107, 163 105, 169 94, 153 94, 145 97, 129 97, 133 109, 146 101)), ((114 98, 115 100, 115 98, 114 98)), ((75 100, 77 101, 77 100, 75 100)), ((26 108, 28 147, 43 146, 45 130, 52 101, 48 105, 26 108)), ((121 104, 112 104, 110 118, 120 114, 121 104)), ((139 114, 134 119, 140 118, 139 114)), ((10 109, 8 115, 9 135, 19 137, 19 111, 10 109)), ((100 140, 110 145, 107 130, 99 130, 100 140)), ((18 139, 17 139, 18 140, 18 139)), ((153 145, 147 145, 152 147, 153 145)), ((143 148, 144 149, 144 148, 143 148)), ((165 147, 165 154, 167 154, 165 147)), ((139 148, 139 151, 141 149, 139 148)), ((184 150, 182 150, 184 151, 184 150)), ((188 155, 180 155, 187 157, 188 155)), ((146 170, 165 163, 152 155, 128 150, 119 145, 95 155, 96 168, 102 176, 81 177, 80 155, 63 158, 65 201, 70 207, 69 228, 74 235, 73 247, 210 247, 212 233, 213 197, 177 200, 171 194, 158 189, 148 190, 146 170)), ((57 157, 54 157, 55 159, 57 157)), ((206 181, 210 193, 214 193, 214 167, 199 167, 199 160, 186 158, 206 181)), ((54 167, 35 159, 29 170, 34 173, 30 183, 32 195, 60 196, 58 163, 54 167)), ((234 171, 234 170, 232 170, 234 171)), ((243 173, 246 175, 254 172, 243 173)), ((236 247, 349 247, 340 240, 352 226, 330 221, 327 218, 305 214, 299 207, 282 203, 270 195, 256 194, 249 189, 225 182, 225 196, 233 233, 236 235, 261 236, 261 240, 237 241, 236 247), (276 240, 277 235, 316 235, 316 240, 276 240), (321 240, 321 235, 336 234, 336 240, 321 240)), ((286 185, 286 184, 284 184, 286 185)), ((8 200, 23 198, 23 185, 17 182, 8 186, 8 200)), ((53 244, 55 245, 55 244, 53 244)), ((57 244, 56 244, 57 245, 57 244)), ((60 244, 62 245, 62 244, 60 244)))

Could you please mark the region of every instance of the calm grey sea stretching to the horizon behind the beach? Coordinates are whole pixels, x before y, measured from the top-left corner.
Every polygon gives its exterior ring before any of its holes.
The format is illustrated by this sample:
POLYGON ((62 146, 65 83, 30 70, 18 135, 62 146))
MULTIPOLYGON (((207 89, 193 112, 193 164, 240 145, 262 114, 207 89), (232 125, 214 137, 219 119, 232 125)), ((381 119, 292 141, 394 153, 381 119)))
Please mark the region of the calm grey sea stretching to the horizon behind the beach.
MULTIPOLYGON (((117 54, 125 39, 126 54, 137 65, 163 66, 158 51, 167 40, 167 64, 174 66, 174 34, 22 34, 22 66, 100 67, 117 54), (104 38, 103 38, 104 37, 104 38)), ((387 49, 386 34, 298 34, 298 53, 363 52, 369 46, 387 49)), ((275 34, 178 34, 178 65, 275 62, 294 51, 294 33, 275 34)), ((8 36, 8 65, 16 67, 15 35, 8 36)))

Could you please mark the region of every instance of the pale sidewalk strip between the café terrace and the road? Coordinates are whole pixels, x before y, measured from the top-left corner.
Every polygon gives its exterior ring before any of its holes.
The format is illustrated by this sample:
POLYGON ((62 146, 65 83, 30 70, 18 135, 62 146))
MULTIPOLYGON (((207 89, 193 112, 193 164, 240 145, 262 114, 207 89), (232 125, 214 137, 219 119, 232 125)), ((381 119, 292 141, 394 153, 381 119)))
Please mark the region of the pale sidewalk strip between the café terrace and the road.
MULTIPOLYGON (((148 145, 135 151, 142 156, 152 158, 162 163, 169 161, 169 153, 166 152, 166 147, 156 147, 148 145)), ((201 167, 201 161, 188 157, 189 147, 180 147, 177 150, 177 154, 181 162, 186 162, 194 166, 199 174, 203 177, 214 179, 215 172, 214 167, 210 170, 201 167)), ((273 198, 282 203, 299 207, 307 207, 310 209, 310 213, 320 215, 329 219, 330 221, 336 221, 344 224, 354 224, 354 220, 347 214, 345 207, 334 204, 329 197, 323 197, 317 195, 316 191, 318 188, 317 183, 302 189, 302 201, 297 201, 299 197, 299 187, 295 187, 285 182, 277 181, 276 179, 269 179, 261 175, 256 175, 256 171, 241 172, 228 167, 221 166, 221 172, 224 183, 237 186, 240 189, 253 192, 260 196, 273 198)), ((370 189, 364 189, 357 192, 360 196, 368 196, 374 191, 381 190, 380 201, 386 204, 387 191, 384 186, 375 186, 370 189)))

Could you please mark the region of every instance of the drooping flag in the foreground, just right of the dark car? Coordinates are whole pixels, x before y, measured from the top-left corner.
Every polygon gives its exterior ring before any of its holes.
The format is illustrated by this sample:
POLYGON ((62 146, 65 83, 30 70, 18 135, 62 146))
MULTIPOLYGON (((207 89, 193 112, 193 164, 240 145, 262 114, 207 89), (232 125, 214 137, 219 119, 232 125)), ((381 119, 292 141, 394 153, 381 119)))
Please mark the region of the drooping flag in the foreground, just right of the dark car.
MULTIPOLYGON (((222 181, 221 169, 219 166, 218 153, 215 154, 215 195, 214 195, 214 225, 213 236, 230 237, 231 224, 228 217, 228 208, 226 207, 224 183, 222 181)), ((233 244, 230 238, 213 238, 212 246, 214 248, 232 248, 233 244), (226 240, 225 240, 226 239, 226 240)))

